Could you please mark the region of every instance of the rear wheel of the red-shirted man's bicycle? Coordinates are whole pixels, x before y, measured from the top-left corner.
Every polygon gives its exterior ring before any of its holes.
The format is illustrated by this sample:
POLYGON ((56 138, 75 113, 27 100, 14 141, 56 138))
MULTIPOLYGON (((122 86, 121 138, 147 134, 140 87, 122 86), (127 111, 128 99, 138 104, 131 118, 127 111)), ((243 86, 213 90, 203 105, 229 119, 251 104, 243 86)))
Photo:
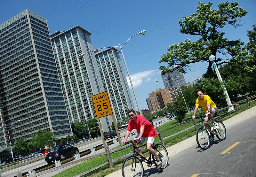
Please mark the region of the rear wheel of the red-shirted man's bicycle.
MULTIPOLYGON (((162 160, 162 166, 160 169, 164 169, 168 165, 168 161, 169 161, 168 152, 164 147, 164 145, 162 144, 156 144, 156 146, 154 146, 154 149, 158 157, 162 160)), ((153 162, 157 163, 155 156, 153 156, 153 162)))

